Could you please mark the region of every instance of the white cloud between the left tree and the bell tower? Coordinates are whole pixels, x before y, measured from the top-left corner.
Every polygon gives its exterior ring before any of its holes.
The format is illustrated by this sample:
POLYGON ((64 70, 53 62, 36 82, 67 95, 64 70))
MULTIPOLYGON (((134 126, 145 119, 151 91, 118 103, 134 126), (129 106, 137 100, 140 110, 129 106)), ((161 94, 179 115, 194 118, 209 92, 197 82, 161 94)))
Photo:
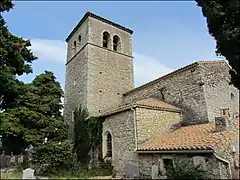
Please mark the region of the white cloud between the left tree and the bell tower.
POLYGON ((32 39, 31 49, 42 60, 66 61, 67 46, 61 40, 32 39))

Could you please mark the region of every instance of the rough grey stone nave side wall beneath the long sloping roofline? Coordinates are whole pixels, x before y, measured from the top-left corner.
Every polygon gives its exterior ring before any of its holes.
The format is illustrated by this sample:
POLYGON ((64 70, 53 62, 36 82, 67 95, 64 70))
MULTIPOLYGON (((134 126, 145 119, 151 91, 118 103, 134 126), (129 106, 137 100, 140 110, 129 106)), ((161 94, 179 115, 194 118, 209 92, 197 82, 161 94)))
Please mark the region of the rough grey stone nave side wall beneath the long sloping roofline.
POLYGON ((123 103, 151 96, 181 108, 186 124, 208 121, 202 74, 197 65, 130 91, 123 103))

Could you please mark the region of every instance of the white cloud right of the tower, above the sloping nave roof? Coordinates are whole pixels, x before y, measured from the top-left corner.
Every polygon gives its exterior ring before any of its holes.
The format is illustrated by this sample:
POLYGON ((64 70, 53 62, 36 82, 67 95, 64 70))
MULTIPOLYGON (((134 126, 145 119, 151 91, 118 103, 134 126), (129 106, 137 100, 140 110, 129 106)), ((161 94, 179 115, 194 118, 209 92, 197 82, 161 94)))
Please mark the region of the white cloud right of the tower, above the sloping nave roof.
POLYGON ((173 71, 154 57, 138 53, 133 53, 133 56, 135 86, 145 84, 173 71))

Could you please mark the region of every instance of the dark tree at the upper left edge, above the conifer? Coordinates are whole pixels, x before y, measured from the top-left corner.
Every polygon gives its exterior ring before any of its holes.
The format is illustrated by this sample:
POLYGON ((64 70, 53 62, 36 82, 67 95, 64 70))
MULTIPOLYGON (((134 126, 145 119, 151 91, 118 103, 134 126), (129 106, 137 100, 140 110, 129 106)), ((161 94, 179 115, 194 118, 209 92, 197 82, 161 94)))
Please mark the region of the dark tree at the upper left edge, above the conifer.
POLYGON ((36 59, 29 50, 30 41, 13 35, 7 28, 2 13, 12 8, 11 0, 0 2, 0 111, 15 107, 23 85, 16 76, 31 73, 31 63, 36 59))

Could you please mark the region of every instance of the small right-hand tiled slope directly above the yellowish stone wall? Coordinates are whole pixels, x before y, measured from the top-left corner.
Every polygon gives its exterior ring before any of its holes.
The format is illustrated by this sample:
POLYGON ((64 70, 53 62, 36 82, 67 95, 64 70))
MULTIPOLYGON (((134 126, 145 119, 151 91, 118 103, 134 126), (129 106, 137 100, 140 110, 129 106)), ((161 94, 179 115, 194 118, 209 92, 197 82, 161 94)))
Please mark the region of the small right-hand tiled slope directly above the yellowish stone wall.
POLYGON ((142 106, 148 106, 148 107, 153 107, 153 108, 160 108, 164 110, 173 110, 173 111, 181 111, 180 108, 173 106, 169 103, 166 103, 164 101, 161 101, 156 98, 147 98, 147 99, 142 99, 139 101, 136 101, 136 105, 142 105, 142 106))

